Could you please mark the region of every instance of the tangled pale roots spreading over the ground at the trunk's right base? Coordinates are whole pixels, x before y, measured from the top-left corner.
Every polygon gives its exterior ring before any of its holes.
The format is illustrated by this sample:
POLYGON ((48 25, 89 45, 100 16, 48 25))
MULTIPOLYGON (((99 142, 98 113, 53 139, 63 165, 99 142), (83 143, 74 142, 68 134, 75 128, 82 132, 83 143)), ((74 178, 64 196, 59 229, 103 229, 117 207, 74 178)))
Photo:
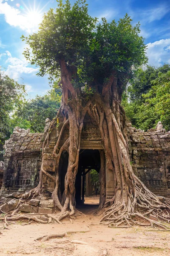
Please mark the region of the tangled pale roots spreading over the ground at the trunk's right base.
MULTIPOLYGON (((138 179, 136 178, 137 182, 138 179)), ((105 203, 105 209, 100 224, 108 225, 108 227, 126 228, 139 225, 159 227, 165 231, 170 231, 170 226, 167 225, 167 223, 170 224, 169 201, 164 199, 162 203, 144 185, 136 193, 130 207, 123 203, 116 204, 115 201, 111 200, 105 203), (111 203, 113 204, 108 208, 108 204, 111 203)))

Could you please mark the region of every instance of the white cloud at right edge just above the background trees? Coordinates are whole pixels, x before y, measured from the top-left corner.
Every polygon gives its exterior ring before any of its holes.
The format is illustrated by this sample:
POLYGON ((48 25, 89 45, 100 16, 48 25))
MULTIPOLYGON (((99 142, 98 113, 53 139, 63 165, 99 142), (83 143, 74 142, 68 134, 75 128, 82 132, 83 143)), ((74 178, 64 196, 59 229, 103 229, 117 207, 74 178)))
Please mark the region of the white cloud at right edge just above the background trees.
POLYGON ((148 63, 157 67, 170 63, 170 38, 147 44, 148 63))

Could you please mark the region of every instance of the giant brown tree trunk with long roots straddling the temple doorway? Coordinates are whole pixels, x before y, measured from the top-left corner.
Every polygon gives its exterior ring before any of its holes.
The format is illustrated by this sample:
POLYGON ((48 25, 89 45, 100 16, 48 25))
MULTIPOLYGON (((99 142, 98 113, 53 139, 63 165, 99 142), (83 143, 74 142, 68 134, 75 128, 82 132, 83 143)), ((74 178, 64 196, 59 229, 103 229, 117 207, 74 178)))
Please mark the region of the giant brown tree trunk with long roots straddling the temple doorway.
MULTIPOLYGON (((75 212, 75 180, 78 169, 80 138, 85 113, 96 120, 99 125, 99 131, 104 145, 104 153, 100 151, 101 170, 100 170, 100 205, 99 209, 105 208, 105 214, 101 222, 113 226, 122 226, 123 224, 131 226, 141 224, 146 221, 153 226, 167 228, 158 221, 153 221, 148 216, 154 215, 161 220, 170 219, 170 205, 167 202, 160 202, 158 197, 150 192, 144 184, 136 177, 130 165, 128 153, 128 143, 125 133, 125 113, 120 105, 122 96, 122 84, 117 81, 116 73, 112 73, 107 83, 102 86, 97 83, 95 93, 86 101, 85 96, 80 89, 76 89, 71 84, 72 77, 76 72, 70 70, 61 60, 61 84, 62 84, 62 105, 57 114, 62 114, 64 123, 59 132, 57 144, 54 147, 54 156, 56 158, 56 177, 55 189, 52 194, 55 206, 61 210, 61 214, 69 212, 73 215, 75 212), (119 93, 118 93, 119 88, 119 93), (100 92, 100 93, 99 93, 100 92), (80 99, 81 98, 81 99, 80 99), (69 139, 59 148, 62 134, 69 125, 69 139), (65 175, 65 192, 63 193, 62 204, 59 200, 59 159, 62 151, 68 151, 68 170, 65 175), (105 161, 107 168, 114 174, 115 195, 109 202, 105 202, 105 161), (101 178, 102 177, 102 178, 101 178), (109 208, 107 208, 109 207, 109 208), (138 218, 138 221, 134 219, 138 218)), ((54 128, 56 119, 51 122, 48 135, 45 139, 44 147, 48 146, 51 129, 54 128)), ((43 152, 43 151, 42 151, 43 152)), ((31 194, 37 196, 41 193, 42 175, 50 175, 43 170, 40 172, 39 186, 31 191, 31 194)), ((54 179, 54 177, 50 177, 54 179)))

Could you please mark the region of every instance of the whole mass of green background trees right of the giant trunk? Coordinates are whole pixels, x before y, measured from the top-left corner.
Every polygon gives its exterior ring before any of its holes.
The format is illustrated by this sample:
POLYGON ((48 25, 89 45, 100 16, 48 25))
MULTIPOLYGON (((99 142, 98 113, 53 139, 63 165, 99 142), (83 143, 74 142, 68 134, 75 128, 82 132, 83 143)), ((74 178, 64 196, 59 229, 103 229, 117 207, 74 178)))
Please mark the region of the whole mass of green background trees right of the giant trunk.
POLYGON ((122 105, 136 128, 155 128, 161 121, 170 130, 170 65, 139 69, 124 94, 122 105))

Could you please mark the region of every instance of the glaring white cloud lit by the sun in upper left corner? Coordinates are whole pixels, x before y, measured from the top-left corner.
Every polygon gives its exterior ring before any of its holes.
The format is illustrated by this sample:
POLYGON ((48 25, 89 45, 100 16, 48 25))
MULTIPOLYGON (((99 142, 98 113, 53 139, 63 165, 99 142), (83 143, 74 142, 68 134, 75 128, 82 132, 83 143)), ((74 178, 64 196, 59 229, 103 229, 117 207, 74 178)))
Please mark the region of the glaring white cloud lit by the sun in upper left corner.
POLYGON ((23 15, 19 9, 10 6, 4 0, 0 0, 0 14, 5 15, 6 22, 27 32, 34 32, 38 29, 38 24, 42 20, 42 14, 38 11, 28 11, 26 15, 23 15))

